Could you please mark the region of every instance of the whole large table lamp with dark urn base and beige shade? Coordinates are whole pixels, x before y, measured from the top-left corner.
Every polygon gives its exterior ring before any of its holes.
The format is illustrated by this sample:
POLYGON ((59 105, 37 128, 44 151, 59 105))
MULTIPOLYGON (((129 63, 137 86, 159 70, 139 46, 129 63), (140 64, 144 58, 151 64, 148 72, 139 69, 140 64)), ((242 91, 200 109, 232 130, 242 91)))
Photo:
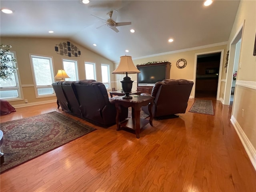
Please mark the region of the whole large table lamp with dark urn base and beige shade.
POLYGON ((128 74, 140 73, 132 61, 131 56, 120 56, 120 62, 118 67, 112 72, 112 74, 126 74, 121 81, 122 89, 124 90, 124 99, 131 99, 130 92, 132 91, 132 83, 134 81, 128 77, 128 74))

